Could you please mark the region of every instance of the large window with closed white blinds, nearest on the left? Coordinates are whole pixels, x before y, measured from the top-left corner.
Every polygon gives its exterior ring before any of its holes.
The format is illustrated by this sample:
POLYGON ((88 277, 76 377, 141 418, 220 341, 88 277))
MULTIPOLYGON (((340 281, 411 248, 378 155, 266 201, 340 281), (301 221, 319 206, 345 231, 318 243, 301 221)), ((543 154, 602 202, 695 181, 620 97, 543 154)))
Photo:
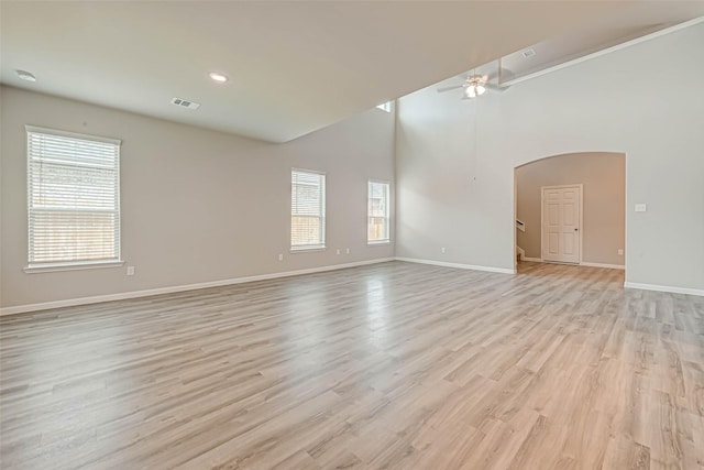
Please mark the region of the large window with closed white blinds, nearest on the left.
POLYGON ((120 261, 120 141, 28 125, 29 269, 120 261))

